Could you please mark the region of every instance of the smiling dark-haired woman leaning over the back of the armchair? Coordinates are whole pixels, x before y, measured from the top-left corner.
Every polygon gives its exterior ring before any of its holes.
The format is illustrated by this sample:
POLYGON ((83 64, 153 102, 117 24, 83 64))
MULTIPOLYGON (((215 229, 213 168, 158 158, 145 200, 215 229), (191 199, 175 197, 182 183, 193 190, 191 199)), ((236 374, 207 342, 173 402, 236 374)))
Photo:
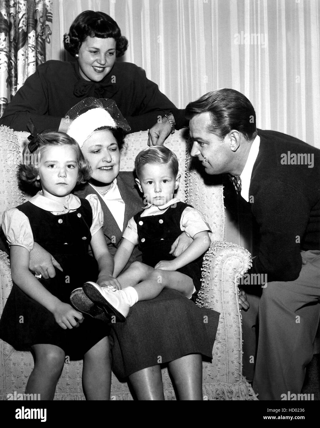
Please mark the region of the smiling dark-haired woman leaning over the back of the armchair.
POLYGON ((127 47, 128 40, 110 16, 92 10, 81 12, 64 35, 64 48, 76 61, 51 60, 39 65, 6 107, 0 124, 27 131, 31 118, 39 131, 66 131, 70 125, 66 113, 79 101, 112 98, 131 132, 151 128, 149 145, 163 144, 175 128, 185 126, 183 110, 147 79, 142 68, 116 62, 127 47))

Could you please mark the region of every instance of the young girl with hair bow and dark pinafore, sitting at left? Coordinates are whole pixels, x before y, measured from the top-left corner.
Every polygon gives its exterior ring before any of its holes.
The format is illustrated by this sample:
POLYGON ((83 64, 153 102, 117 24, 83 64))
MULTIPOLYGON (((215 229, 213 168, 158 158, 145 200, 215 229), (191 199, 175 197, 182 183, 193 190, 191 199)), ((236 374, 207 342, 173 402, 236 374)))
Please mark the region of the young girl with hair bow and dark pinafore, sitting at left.
POLYGON ((90 177, 90 167, 76 141, 59 132, 34 137, 23 160, 27 162, 21 165, 21 180, 42 190, 3 214, 14 285, 0 320, 0 337, 17 350, 32 351, 35 365, 26 393, 52 400, 64 362, 83 358, 86 398, 108 400, 108 324, 83 317, 69 304, 76 286, 92 278, 108 285, 113 273, 97 196, 79 199, 71 194, 76 184, 90 177), (34 242, 61 265, 63 270, 56 270, 54 278, 37 278, 29 271, 34 242), (89 244, 96 260, 88 254, 89 244))

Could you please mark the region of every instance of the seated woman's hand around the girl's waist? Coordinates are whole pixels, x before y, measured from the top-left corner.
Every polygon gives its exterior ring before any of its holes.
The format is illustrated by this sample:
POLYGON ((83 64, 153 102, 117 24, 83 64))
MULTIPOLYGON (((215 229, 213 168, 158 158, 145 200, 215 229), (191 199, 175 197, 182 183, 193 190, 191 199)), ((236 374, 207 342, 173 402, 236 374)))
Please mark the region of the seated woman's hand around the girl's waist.
POLYGON ((29 269, 37 275, 42 275, 43 278, 48 279, 55 277, 55 268, 63 272, 55 258, 35 242, 29 255, 29 269))

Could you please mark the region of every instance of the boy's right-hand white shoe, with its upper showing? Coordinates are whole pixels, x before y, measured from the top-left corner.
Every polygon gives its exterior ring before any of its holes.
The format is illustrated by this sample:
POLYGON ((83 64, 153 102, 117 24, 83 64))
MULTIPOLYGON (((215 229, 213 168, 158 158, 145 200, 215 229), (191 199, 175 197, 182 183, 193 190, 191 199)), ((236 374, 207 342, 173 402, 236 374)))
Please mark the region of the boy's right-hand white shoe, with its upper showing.
POLYGON ((125 321, 130 306, 123 300, 119 291, 109 291, 108 288, 100 287, 91 281, 84 283, 83 290, 92 302, 103 305, 110 315, 115 315, 116 321, 125 321))

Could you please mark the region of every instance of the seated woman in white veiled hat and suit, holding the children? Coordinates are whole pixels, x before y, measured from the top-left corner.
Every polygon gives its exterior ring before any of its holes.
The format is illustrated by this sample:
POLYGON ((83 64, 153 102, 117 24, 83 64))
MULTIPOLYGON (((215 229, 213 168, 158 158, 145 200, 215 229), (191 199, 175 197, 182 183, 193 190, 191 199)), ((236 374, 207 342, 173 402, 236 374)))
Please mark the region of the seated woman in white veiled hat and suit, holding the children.
MULTIPOLYGON (((98 195, 105 240, 114 254, 128 220, 143 205, 133 173, 119 172, 123 130, 128 131, 128 124, 111 100, 89 98, 69 114, 75 120, 67 133, 78 141, 93 171, 77 194, 98 195)), ((128 264, 135 260, 140 260, 137 247, 128 264)), ((33 265, 30 269, 41 271, 33 265)), ((85 312, 99 312, 83 293, 78 303, 85 312)), ((136 303, 124 323, 111 324, 113 372, 128 378, 138 399, 163 400, 160 363, 167 363, 178 398, 202 400, 202 360, 212 358, 218 318, 217 312, 199 308, 174 290, 136 303)))

